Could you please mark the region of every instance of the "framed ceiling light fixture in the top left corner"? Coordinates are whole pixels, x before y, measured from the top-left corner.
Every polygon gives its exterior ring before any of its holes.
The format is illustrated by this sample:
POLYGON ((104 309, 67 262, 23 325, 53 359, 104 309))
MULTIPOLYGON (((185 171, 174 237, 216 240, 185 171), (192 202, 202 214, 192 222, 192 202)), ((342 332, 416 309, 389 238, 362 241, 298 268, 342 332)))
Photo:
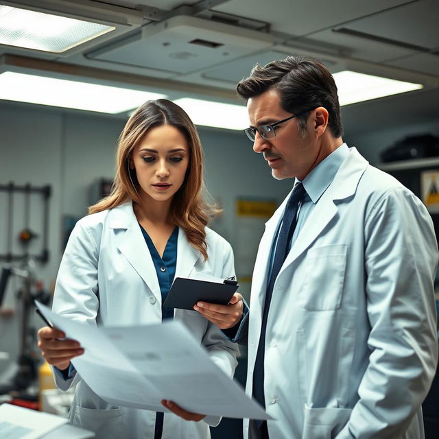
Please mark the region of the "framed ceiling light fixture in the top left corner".
POLYGON ((0 45, 69 56, 143 21, 141 10, 90 0, 0 0, 0 45))

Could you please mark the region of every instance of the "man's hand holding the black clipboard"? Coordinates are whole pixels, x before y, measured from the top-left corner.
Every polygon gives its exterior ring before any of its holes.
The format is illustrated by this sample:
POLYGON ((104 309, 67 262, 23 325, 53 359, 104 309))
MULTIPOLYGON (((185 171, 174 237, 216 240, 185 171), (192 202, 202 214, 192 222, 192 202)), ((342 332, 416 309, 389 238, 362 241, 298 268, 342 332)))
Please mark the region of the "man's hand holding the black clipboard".
POLYGON ((228 329, 233 328, 241 320, 244 304, 241 294, 235 293, 230 302, 228 302, 228 305, 197 302, 193 309, 213 324, 216 324, 219 329, 228 329))

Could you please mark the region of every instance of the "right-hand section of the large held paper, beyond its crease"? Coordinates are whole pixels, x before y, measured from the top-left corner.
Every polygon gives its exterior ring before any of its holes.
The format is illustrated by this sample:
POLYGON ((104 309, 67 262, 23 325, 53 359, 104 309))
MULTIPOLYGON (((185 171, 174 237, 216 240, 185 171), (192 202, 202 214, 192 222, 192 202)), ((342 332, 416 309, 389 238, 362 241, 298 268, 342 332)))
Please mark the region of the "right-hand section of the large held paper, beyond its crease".
POLYGON ((213 364, 180 322, 102 330, 163 392, 163 399, 171 399, 194 413, 269 418, 238 383, 213 364))

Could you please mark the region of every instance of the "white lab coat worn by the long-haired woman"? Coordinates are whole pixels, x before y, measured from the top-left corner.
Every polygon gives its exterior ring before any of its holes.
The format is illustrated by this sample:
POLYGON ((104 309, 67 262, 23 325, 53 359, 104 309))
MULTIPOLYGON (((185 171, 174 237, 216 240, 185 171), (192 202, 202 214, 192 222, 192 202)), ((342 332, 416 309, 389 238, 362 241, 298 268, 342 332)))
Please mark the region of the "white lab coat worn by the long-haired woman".
MULTIPOLYGON (((235 274, 230 244, 209 228, 206 244, 209 260, 204 263, 202 254, 179 230, 176 276, 204 272, 225 278, 235 274)), ((161 302, 154 263, 132 203, 80 219, 62 257, 54 311, 91 326, 139 325, 161 322, 161 302)), ((225 340, 219 329, 197 311, 176 309, 174 318, 186 324, 212 361, 233 377, 237 346, 225 340)), ((106 403, 78 373, 67 381, 56 371, 54 377, 62 390, 77 384, 69 418, 73 425, 95 431, 97 438, 154 438, 155 412, 106 403)), ((165 413, 162 437, 210 438, 209 425, 217 425, 219 420, 208 416, 195 423, 165 413)))

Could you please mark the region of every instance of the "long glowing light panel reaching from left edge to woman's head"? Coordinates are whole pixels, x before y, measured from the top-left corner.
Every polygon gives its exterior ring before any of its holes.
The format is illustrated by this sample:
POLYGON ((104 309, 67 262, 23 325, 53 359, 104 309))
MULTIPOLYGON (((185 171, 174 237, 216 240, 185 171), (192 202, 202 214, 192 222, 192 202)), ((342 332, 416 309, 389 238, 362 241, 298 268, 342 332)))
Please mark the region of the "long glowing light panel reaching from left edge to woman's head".
POLYGON ((0 99, 8 101, 117 114, 137 108, 148 99, 163 97, 166 96, 130 88, 60 80, 12 71, 0 74, 0 99))

